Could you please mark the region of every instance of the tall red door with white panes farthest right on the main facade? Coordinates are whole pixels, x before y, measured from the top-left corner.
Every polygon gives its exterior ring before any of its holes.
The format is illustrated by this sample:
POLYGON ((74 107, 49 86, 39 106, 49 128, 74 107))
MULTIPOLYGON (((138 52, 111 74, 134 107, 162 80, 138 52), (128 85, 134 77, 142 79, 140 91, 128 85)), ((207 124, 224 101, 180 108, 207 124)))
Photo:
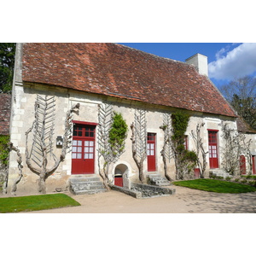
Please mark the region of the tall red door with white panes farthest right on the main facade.
POLYGON ((208 131, 210 169, 218 168, 218 131, 208 131))

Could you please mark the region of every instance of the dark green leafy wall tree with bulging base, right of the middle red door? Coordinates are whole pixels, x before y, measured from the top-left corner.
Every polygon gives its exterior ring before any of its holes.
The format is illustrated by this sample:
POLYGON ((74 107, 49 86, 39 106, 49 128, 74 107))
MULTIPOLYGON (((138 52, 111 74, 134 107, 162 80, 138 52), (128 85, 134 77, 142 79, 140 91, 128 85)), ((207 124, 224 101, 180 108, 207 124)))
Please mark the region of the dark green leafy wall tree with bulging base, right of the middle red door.
POLYGON ((184 179, 197 163, 197 155, 184 146, 185 132, 189 125, 189 114, 177 111, 172 113, 172 151, 176 166, 176 179, 184 179))

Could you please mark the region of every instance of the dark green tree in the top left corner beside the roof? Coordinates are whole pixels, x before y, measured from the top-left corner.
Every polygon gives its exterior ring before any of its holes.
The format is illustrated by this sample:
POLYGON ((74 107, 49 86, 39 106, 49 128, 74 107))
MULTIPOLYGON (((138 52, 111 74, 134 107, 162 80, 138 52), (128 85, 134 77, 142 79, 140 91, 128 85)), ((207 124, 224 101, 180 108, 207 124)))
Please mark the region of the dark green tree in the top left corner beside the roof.
POLYGON ((15 43, 0 44, 0 93, 10 92, 15 69, 15 43))

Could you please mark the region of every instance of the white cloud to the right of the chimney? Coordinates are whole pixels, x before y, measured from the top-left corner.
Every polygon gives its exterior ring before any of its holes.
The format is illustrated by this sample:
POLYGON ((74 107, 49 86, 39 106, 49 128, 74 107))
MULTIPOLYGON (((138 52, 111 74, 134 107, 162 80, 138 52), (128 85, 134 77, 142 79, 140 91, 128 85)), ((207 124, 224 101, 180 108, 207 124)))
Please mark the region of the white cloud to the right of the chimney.
POLYGON ((235 79, 256 72, 256 44, 240 44, 230 51, 229 47, 220 49, 216 61, 208 65, 212 79, 235 79))

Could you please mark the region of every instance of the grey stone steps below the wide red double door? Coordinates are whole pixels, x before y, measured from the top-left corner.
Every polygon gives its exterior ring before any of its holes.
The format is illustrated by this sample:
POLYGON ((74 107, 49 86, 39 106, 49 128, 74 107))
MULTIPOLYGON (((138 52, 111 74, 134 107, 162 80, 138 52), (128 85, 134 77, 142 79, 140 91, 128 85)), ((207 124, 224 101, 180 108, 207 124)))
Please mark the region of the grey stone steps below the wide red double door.
POLYGON ((100 177, 96 175, 75 175, 70 177, 69 189, 74 195, 91 195, 107 191, 100 177))

